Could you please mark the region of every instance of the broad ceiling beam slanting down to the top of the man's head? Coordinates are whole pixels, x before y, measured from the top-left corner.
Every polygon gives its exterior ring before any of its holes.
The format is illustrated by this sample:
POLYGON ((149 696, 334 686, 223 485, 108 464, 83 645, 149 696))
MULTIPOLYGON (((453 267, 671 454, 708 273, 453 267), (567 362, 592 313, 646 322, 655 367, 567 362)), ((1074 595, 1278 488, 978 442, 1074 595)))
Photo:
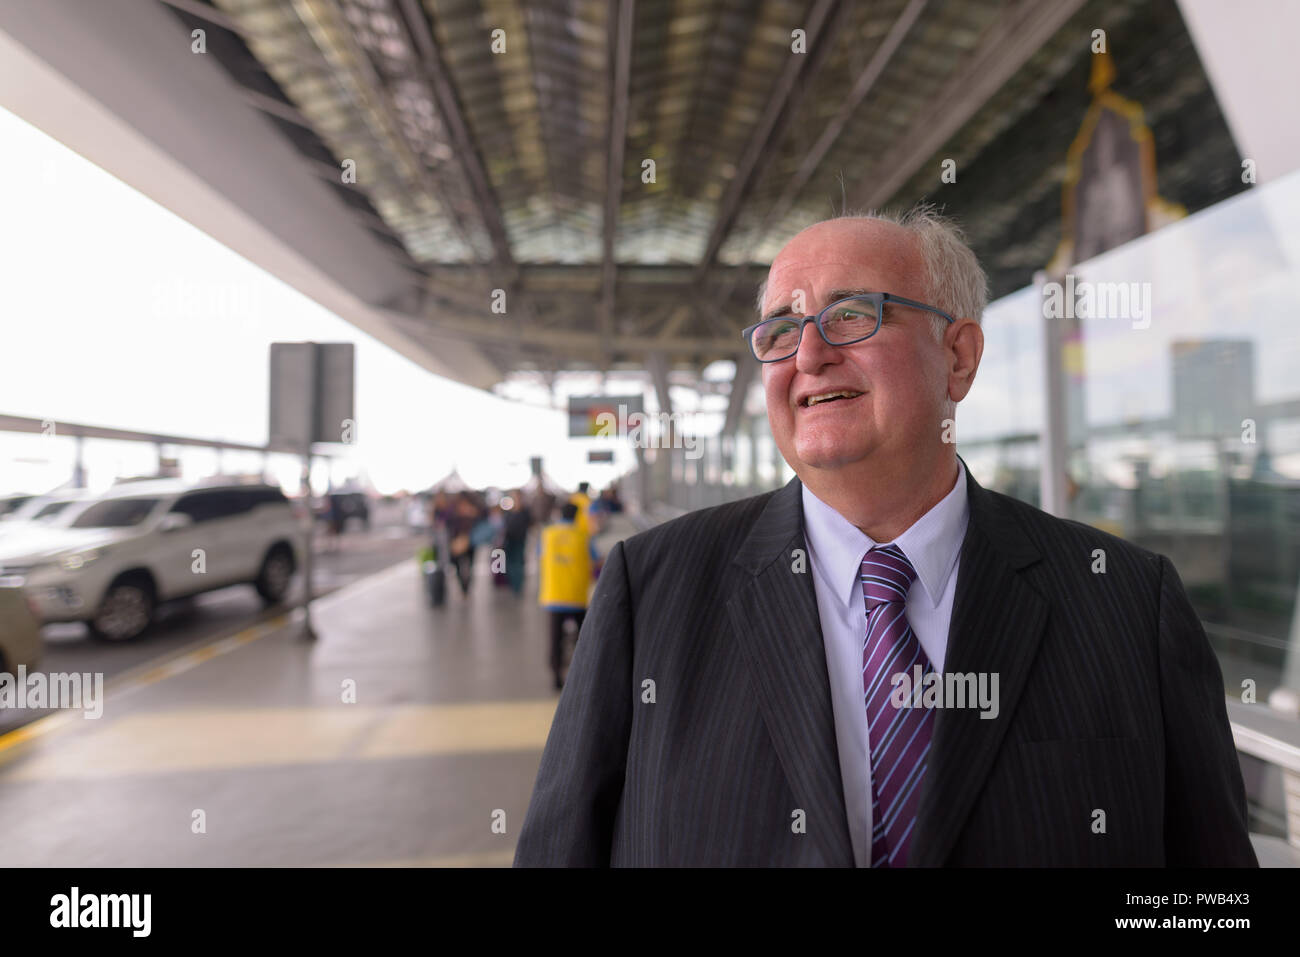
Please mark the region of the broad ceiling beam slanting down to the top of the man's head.
POLYGON ((850 205, 878 209, 888 203, 1082 5, 1083 0, 1020 0, 1004 13, 984 31, 979 46, 933 99, 933 107, 867 168, 850 205))

